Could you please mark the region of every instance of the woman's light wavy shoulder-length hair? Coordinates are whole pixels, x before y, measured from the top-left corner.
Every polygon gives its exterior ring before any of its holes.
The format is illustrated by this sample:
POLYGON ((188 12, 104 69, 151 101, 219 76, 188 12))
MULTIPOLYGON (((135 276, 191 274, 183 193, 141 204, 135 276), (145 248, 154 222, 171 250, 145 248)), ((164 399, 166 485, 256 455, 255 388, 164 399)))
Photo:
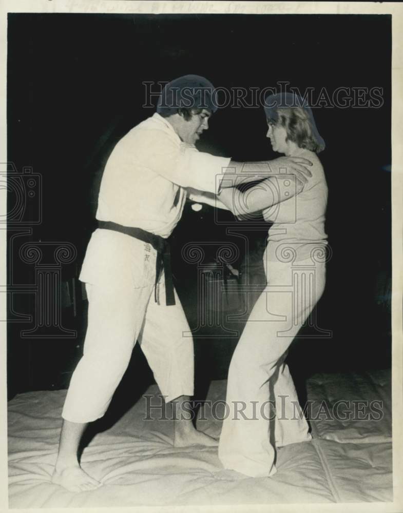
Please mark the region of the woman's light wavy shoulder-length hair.
POLYGON ((275 109, 277 119, 267 118, 267 123, 279 123, 287 132, 287 141, 293 141, 299 148, 319 153, 324 149, 324 142, 317 141, 308 112, 302 107, 278 107, 275 109))

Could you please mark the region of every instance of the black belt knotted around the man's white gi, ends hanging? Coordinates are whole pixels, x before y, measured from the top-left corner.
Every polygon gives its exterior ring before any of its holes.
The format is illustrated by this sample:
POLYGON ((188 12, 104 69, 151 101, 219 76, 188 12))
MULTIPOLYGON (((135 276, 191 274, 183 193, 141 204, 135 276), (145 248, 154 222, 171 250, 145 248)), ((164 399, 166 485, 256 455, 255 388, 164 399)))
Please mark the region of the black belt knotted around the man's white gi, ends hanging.
POLYGON ((111 221, 98 221, 98 227, 103 230, 119 231, 130 235, 135 239, 147 242, 157 251, 156 261, 156 283, 154 298, 157 301, 157 283, 160 278, 160 273, 164 269, 165 274, 165 298, 167 306, 175 305, 175 294, 174 294, 174 281, 172 280, 172 269, 171 269, 171 254, 169 248, 169 242, 167 239, 155 235, 149 231, 142 230, 141 228, 132 228, 131 226, 123 226, 118 223, 112 223, 111 221))

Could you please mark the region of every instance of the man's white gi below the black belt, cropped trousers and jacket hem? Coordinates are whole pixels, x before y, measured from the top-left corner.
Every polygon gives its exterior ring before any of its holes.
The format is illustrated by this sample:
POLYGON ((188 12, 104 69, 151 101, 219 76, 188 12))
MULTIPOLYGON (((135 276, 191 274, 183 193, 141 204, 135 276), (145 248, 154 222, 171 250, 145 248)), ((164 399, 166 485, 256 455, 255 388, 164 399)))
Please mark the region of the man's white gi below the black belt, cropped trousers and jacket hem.
POLYGON ((166 401, 194 393, 194 348, 183 308, 165 305, 162 275, 154 299, 157 252, 129 235, 96 230, 80 279, 86 282, 88 327, 62 417, 86 423, 101 418, 139 341, 166 401))

